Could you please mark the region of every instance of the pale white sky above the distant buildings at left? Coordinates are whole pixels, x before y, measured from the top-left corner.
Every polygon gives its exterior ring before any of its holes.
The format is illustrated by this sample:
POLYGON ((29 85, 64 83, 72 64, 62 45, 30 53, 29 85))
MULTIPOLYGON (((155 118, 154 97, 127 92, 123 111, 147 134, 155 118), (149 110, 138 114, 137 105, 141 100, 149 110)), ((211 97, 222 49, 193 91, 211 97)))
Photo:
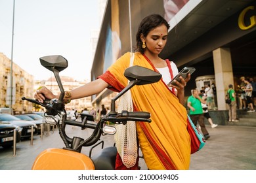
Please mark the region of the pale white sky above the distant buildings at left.
MULTIPOLYGON (((53 73, 39 58, 61 55, 68 68, 60 76, 91 80, 91 31, 100 29, 98 0, 15 0, 12 61, 47 80, 53 73)), ((0 52, 11 59, 13 0, 0 0, 0 52)))

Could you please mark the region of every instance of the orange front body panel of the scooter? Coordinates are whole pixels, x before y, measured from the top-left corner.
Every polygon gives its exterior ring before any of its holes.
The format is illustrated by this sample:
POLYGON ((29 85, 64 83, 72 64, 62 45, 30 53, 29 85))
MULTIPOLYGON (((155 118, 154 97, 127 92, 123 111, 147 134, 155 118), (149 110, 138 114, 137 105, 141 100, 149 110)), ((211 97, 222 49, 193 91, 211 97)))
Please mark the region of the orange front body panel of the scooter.
POLYGON ((60 148, 49 148, 41 152, 32 170, 94 170, 93 161, 84 154, 60 148))

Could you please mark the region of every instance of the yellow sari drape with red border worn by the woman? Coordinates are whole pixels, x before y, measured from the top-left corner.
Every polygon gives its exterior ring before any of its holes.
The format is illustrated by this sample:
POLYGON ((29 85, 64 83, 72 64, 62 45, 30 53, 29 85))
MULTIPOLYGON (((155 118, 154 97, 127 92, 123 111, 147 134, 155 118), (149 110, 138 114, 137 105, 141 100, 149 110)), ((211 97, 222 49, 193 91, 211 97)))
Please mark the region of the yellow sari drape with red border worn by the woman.
MULTIPOLYGON (((121 56, 104 75, 99 76, 110 89, 121 91, 127 85, 123 73, 129 67, 129 52, 121 56)), ((150 61, 135 53, 133 65, 156 70, 150 61)), ((190 135, 187 113, 179 99, 163 80, 131 88, 133 105, 138 111, 151 114, 151 123, 137 122, 140 149, 148 169, 188 169, 190 164, 190 135)))

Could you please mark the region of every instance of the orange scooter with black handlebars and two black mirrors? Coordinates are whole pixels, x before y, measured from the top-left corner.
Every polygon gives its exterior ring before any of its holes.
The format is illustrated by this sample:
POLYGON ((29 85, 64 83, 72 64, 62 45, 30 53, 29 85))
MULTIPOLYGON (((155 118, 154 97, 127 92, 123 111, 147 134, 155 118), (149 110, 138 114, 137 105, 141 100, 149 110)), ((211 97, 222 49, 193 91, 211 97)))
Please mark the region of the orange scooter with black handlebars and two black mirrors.
POLYGON ((101 135, 114 135, 116 133, 116 128, 106 125, 106 122, 118 125, 125 125, 127 121, 151 122, 149 112, 128 112, 123 110, 121 113, 117 113, 116 100, 135 85, 158 82, 161 74, 138 65, 127 68, 124 75, 130 80, 129 84, 112 99, 110 112, 100 118, 97 124, 93 124, 94 118, 89 114, 80 114, 81 122, 66 119, 67 114, 63 103, 64 88, 59 73, 68 67, 68 61, 58 55, 45 56, 39 60, 43 67, 54 73, 60 89, 60 97, 51 100, 45 99, 43 103, 26 97, 22 97, 22 100, 41 105, 46 109, 45 122, 56 124, 65 147, 48 148, 41 152, 35 159, 32 170, 114 170, 117 154, 116 146, 103 148, 92 157, 91 155, 82 154, 81 150, 83 146, 94 145, 93 147, 95 147, 101 135), (65 130, 66 125, 81 127, 81 130, 86 128, 93 129, 93 132, 87 139, 68 137, 65 130))

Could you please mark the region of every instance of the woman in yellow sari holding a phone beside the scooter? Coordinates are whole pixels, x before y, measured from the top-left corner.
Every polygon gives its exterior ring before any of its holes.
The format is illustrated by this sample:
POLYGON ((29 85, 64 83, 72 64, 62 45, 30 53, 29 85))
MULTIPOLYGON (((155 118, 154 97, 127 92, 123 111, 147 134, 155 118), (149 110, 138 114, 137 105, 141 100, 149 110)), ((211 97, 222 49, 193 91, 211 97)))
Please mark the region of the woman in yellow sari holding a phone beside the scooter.
MULTIPOLYGON (((184 108, 184 87, 190 75, 177 86, 167 86, 178 73, 175 63, 163 60, 158 55, 167 42, 169 24, 158 14, 147 16, 140 22, 137 31, 137 52, 133 65, 159 71, 162 78, 154 84, 135 86, 131 89, 133 108, 148 111, 152 122, 137 122, 137 137, 148 169, 188 169, 190 163, 190 135, 187 131, 187 113, 184 108)), ((127 86, 123 76, 129 67, 130 53, 126 53, 108 68, 97 80, 66 92, 64 101, 79 99, 100 93, 104 88, 120 92, 127 86)), ((43 87, 35 93, 35 99, 43 102, 45 97, 58 97, 43 87)), ((130 169, 137 169, 138 163, 130 169)), ((123 167, 117 155, 116 169, 123 167)))

